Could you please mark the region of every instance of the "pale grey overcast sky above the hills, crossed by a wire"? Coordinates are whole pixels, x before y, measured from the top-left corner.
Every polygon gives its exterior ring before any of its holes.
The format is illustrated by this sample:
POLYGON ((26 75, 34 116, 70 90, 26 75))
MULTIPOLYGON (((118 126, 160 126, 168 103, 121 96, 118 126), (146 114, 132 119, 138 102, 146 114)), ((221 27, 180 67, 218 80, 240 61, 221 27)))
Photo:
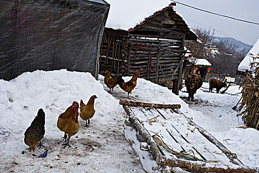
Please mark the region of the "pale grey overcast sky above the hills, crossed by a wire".
MULTIPOLYGON (((176 0, 196 8, 214 13, 259 23, 259 0, 176 0)), ((190 28, 209 27, 215 36, 231 37, 243 43, 254 45, 259 39, 259 25, 245 23, 207 12, 199 11, 177 3, 179 12, 190 28), (201 26, 204 25, 204 26, 201 26)))

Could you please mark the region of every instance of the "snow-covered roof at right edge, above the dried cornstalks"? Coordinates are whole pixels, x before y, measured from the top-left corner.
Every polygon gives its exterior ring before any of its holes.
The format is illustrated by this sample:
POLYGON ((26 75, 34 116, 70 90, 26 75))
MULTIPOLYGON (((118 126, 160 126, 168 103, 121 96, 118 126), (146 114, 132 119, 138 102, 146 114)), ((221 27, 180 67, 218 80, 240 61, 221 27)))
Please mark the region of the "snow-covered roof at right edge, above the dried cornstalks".
MULTIPOLYGON (((254 44, 254 46, 250 49, 250 51, 247 53, 245 58, 241 61, 237 70, 241 72, 245 72, 246 70, 251 71, 250 63, 253 62, 252 56, 253 55, 256 56, 258 53, 259 53, 259 39, 254 44)), ((256 62, 259 62, 259 60, 257 59, 256 62)))

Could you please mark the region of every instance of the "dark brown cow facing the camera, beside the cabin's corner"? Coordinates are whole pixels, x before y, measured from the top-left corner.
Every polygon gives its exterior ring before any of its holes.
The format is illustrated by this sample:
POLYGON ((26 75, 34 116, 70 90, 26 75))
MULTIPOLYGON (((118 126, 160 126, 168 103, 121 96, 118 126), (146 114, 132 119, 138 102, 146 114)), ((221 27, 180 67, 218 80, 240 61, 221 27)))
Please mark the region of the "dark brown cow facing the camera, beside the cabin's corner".
POLYGON ((193 95, 196 93, 197 89, 202 86, 202 83, 202 78, 198 74, 190 74, 185 79, 185 86, 189 94, 188 100, 191 99, 191 101, 193 101, 193 95))

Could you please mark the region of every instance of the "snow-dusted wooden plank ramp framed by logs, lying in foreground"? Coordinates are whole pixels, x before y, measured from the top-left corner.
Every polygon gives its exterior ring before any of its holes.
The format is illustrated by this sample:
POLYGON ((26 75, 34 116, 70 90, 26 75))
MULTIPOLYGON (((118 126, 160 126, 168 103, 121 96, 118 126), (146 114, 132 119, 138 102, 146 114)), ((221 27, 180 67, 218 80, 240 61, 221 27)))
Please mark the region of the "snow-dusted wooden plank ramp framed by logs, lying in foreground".
POLYGON ((209 132, 177 108, 179 105, 120 101, 128 115, 125 125, 145 138, 157 165, 191 172, 257 173, 245 166, 209 132), (145 107, 143 106, 145 105, 145 107))

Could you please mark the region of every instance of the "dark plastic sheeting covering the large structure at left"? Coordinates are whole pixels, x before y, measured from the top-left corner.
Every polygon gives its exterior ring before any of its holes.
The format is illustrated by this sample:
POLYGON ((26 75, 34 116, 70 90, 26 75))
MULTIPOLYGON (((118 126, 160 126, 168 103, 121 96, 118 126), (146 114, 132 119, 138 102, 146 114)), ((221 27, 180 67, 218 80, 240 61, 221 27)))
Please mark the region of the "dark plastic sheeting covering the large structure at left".
POLYGON ((94 75, 109 8, 89 0, 0 0, 0 79, 35 70, 94 75))

